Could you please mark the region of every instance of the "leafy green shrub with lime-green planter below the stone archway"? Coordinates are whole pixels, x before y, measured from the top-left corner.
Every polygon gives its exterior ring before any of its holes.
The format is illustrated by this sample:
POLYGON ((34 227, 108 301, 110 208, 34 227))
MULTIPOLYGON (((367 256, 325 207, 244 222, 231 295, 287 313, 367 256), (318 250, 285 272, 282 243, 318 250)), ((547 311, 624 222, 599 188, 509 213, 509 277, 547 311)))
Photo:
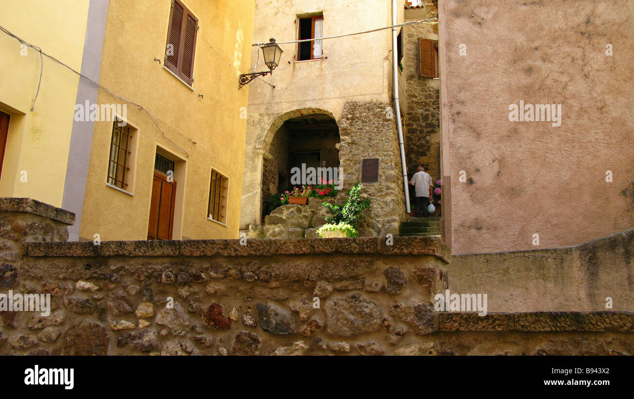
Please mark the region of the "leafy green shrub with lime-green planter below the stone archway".
POLYGON ((361 213, 370 207, 370 199, 361 198, 363 186, 358 181, 347 192, 346 202, 344 204, 328 204, 323 202, 332 216, 324 218, 327 224, 324 224, 318 230, 321 237, 332 238, 338 237, 356 237, 359 235, 357 226, 361 221, 361 213))

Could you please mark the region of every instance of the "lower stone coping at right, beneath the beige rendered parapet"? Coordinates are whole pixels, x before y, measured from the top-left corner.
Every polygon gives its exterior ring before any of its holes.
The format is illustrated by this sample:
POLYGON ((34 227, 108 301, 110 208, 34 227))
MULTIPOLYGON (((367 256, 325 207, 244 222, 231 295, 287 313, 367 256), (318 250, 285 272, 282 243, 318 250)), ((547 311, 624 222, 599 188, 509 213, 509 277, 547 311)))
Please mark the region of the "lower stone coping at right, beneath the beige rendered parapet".
POLYGON ((603 331, 634 333, 634 312, 441 312, 440 331, 603 331))

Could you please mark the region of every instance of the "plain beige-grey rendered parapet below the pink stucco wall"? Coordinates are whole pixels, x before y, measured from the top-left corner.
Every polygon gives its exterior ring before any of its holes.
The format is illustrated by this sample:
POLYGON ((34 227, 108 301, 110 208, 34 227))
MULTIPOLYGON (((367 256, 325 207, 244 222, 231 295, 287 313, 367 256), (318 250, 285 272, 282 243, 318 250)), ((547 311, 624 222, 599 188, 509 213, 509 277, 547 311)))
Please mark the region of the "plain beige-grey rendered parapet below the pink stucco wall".
POLYGON ((453 255, 452 292, 493 293, 491 312, 634 310, 634 229, 570 247, 453 255))

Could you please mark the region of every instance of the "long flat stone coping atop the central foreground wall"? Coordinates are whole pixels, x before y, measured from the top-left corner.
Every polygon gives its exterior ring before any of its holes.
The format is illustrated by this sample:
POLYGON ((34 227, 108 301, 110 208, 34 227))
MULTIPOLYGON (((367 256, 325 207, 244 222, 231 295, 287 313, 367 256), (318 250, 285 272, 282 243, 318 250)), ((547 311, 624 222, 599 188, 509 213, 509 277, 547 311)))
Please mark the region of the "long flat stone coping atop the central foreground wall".
POLYGON ((392 245, 382 237, 358 238, 280 238, 262 240, 162 240, 27 243, 30 257, 107 257, 107 256, 271 256, 271 255, 434 255, 448 263, 449 249, 438 236, 394 236, 392 245))

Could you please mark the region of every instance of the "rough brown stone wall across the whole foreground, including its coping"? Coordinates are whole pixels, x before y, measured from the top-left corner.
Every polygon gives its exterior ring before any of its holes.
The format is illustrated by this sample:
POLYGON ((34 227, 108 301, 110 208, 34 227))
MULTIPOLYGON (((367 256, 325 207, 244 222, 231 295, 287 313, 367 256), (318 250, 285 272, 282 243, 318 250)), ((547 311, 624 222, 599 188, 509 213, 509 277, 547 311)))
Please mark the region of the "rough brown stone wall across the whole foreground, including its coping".
POLYGON ((631 354, 631 312, 436 312, 436 237, 64 242, 70 212, 0 199, 4 355, 631 354), (583 345, 579 343, 583 342, 583 345))

